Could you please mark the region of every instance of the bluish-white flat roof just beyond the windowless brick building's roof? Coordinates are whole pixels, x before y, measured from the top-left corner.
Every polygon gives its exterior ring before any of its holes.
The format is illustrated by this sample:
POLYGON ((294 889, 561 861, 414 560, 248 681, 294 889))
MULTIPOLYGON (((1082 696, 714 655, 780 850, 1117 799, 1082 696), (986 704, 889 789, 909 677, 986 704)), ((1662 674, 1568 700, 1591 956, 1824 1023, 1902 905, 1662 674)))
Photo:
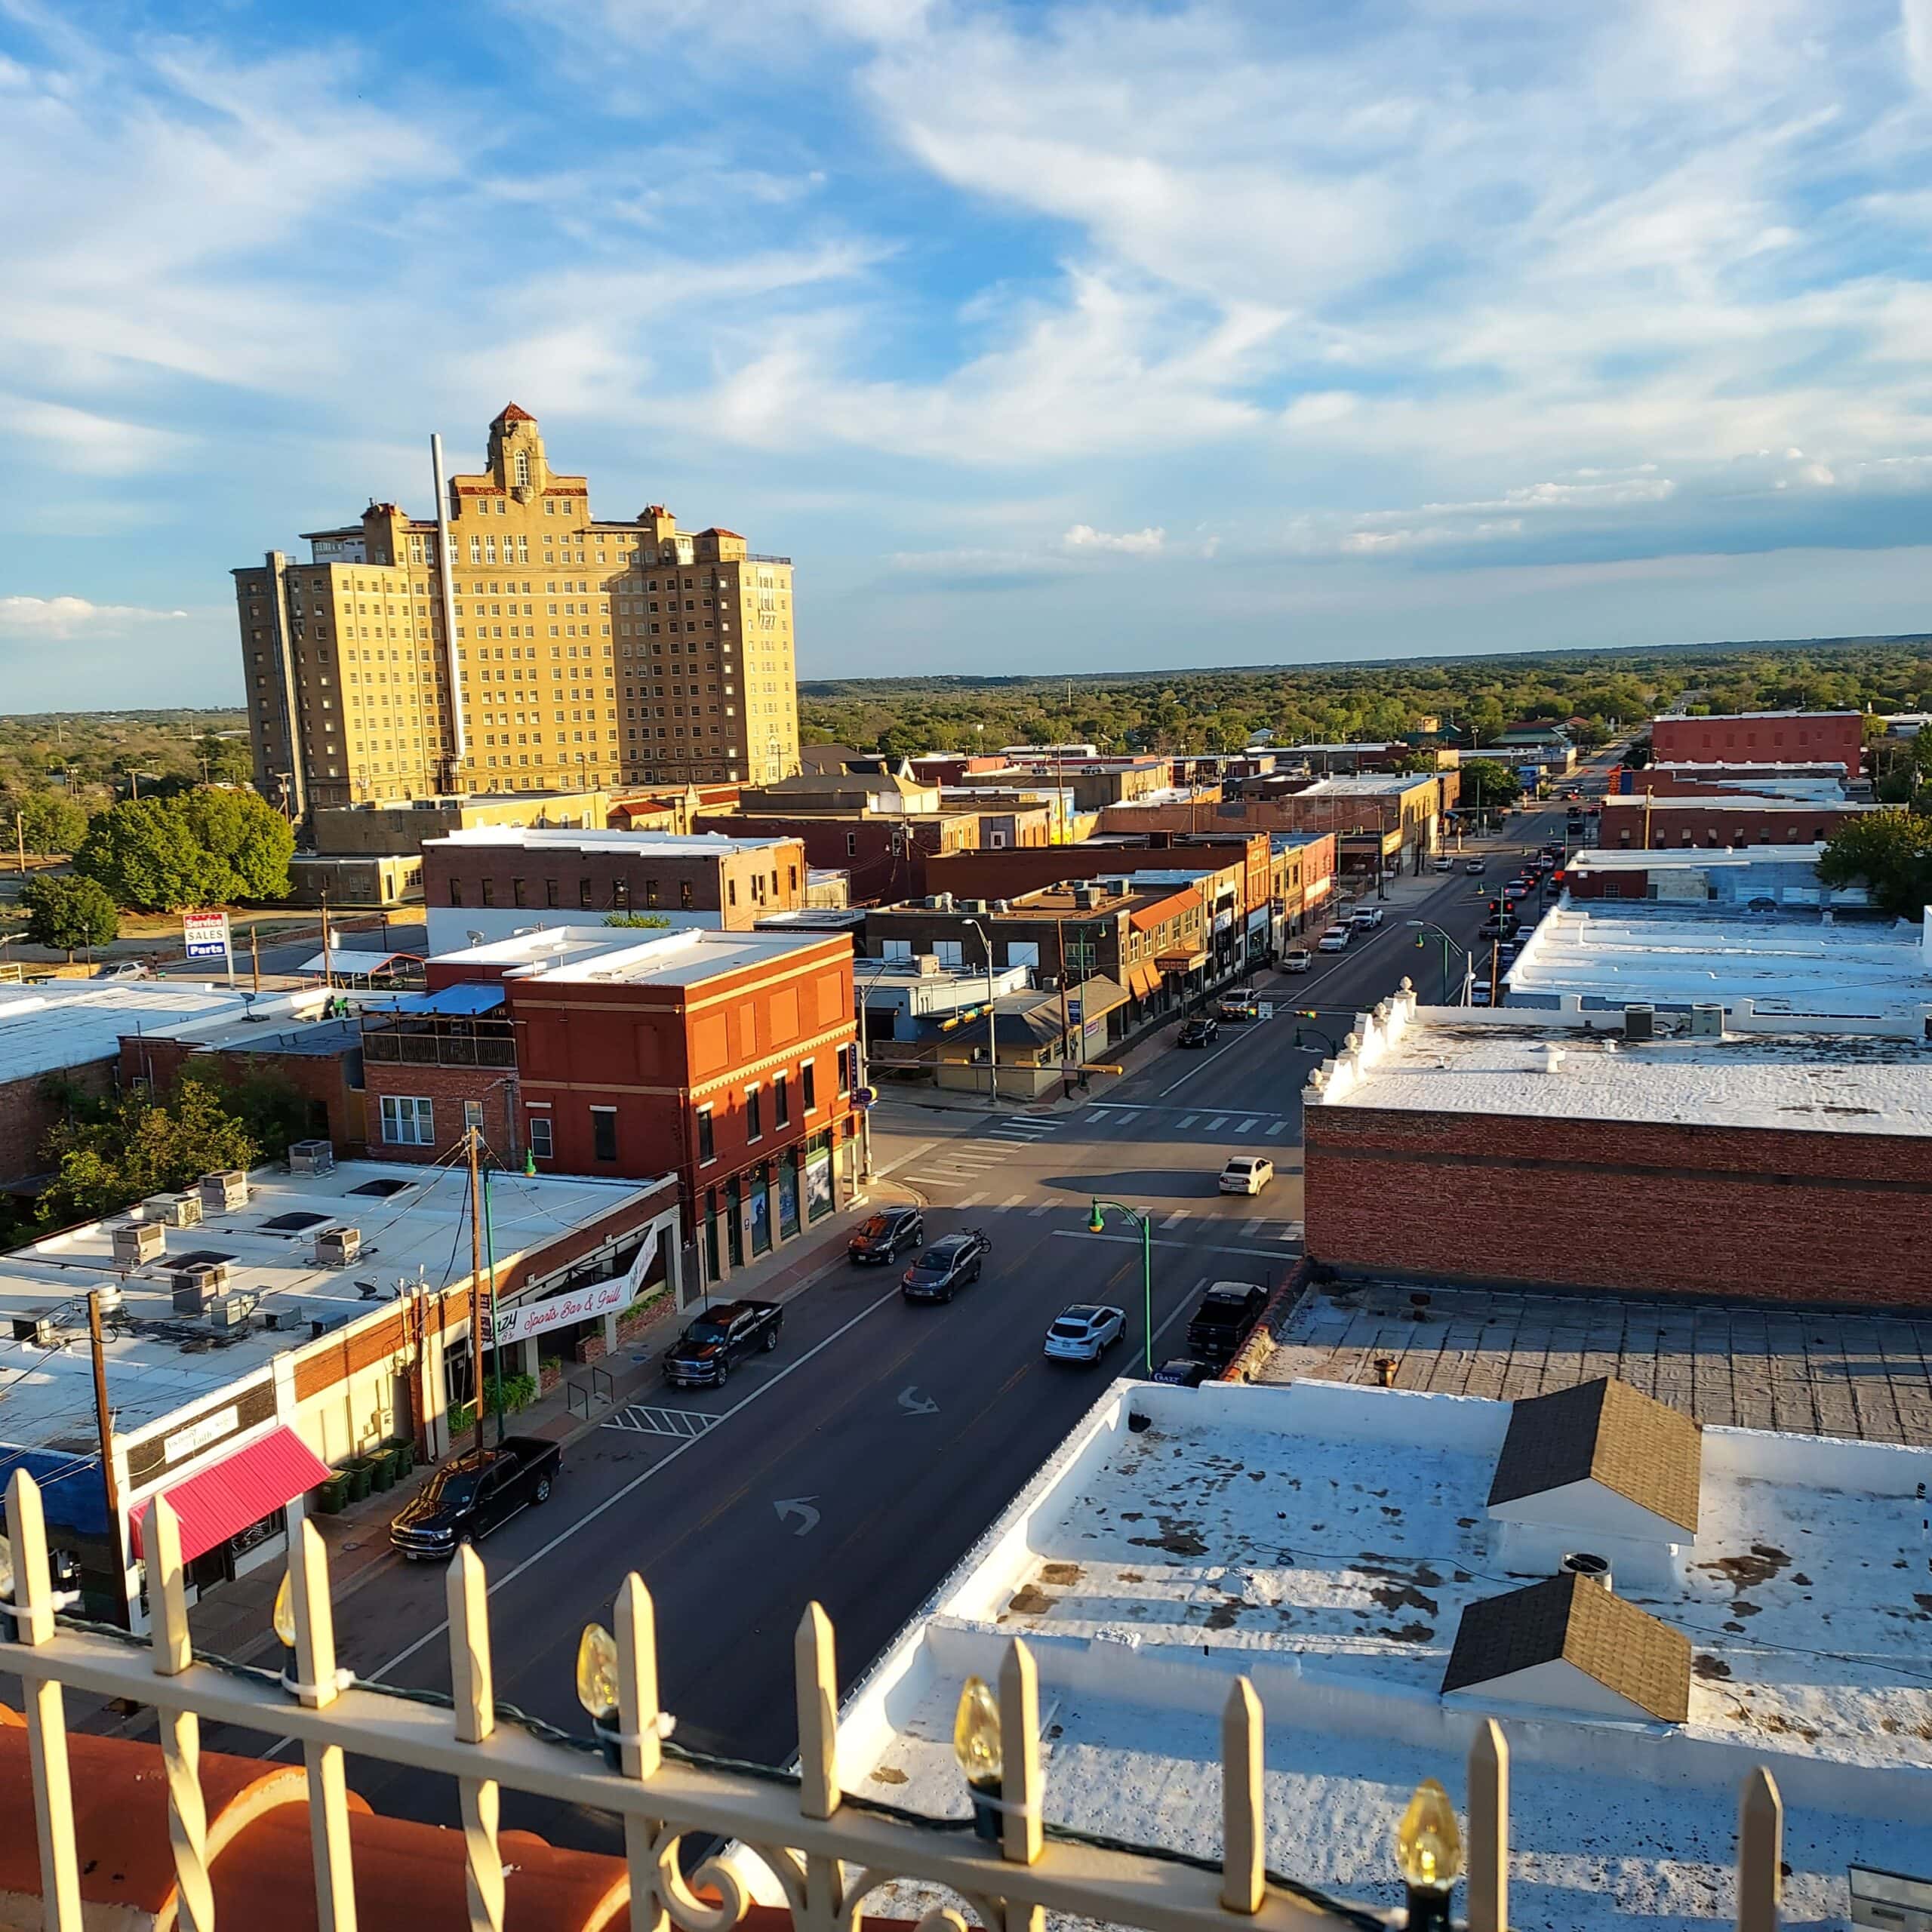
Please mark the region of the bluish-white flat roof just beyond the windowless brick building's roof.
POLYGON ((1816 910, 1565 900, 1530 933, 1509 989, 1511 999, 1575 993, 1607 1007, 1748 999, 1760 1012, 1855 1018, 1932 1005, 1932 960, 1918 927, 1874 918, 1826 925, 1816 910))

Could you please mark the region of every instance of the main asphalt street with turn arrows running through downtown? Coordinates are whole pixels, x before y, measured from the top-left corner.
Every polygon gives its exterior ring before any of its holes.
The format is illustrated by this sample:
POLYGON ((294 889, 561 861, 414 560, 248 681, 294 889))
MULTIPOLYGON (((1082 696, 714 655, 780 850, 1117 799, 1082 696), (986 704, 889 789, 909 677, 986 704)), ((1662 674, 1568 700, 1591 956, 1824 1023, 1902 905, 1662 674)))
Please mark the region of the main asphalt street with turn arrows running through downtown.
MULTIPOLYGON (((1513 852, 1561 837, 1561 811, 1517 821, 1513 852)), ((1493 850, 1493 846, 1492 846, 1493 850)), ((1501 885, 1492 862, 1488 889, 1501 885)), ((665 1706, 690 1745, 765 1762, 794 1750, 790 1640, 823 1602, 840 1671, 856 1677, 972 1546, 1105 1383, 1150 1352, 1180 1352, 1186 1312, 1211 1281, 1273 1285, 1300 1254, 1300 1088, 1327 1051, 1296 1041, 1294 1009, 1339 1037, 1354 1014, 1412 976, 1441 985, 1443 949, 1416 947, 1406 920, 1459 943, 1484 916, 1457 871, 1391 885, 1385 925, 1306 976, 1262 976, 1275 1014, 1225 1026, 1208 1049, 1161 1043, 1074 1109, 929 1107, 889 1097, 873 1115, 881 1177, 927 1208, 927 1233, 981 1227, 993 1252, 949 1306, 906 1306, 898 1269, 835 1262, 786 1302, 777 1352, 728 1389, 653 1387, 580 1437, 541 1511, 500 1530, 493 1577, 497 1694, 583 1727, 572 1660, 585 1619, 638 1569, 657 1598, 665 1706), (1221 1196, 1236 1151, 1267 1153, 1279 1179, 1258 1198, 1221 1196), (1144 1339, 1140 1236, 1121 1215, 1086 1231, 1094 1196, 1151 1223, 1151 1345, 1144 1339), (1115 1302, 1128 1337, 1094 1370, 1041 1358, 1072 1300, 1115 1302)), ((1451 981, 1461 985, 1455 958, 1451 981)), ((668 1335, 653 1339, 659 1352, 668 1335)), ((355 1594, 342 1658, 359 1675, 446 1687, 442 1573, 392 1559, 355 1594)), ((211 1748, 263 1748, 209 1739, 211 1748)), ((454 1822, 454 1793, 377 1764, 350 1783, 379 1810, 454 1822)), ((506 1795, 504 1826, 609 1843, 607 1822, 558 1816, 506 1795)))

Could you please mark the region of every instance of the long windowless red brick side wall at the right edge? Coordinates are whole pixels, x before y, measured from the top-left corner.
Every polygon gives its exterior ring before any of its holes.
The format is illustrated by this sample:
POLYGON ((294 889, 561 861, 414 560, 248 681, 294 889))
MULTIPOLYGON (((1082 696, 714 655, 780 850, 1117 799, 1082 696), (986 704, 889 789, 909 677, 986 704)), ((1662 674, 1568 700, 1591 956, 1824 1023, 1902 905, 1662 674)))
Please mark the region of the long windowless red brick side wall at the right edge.
POLYGON ((1308 1254, 1356 1273, 1932 1308, 1932 1140, 1306 1113, 1308 1254))

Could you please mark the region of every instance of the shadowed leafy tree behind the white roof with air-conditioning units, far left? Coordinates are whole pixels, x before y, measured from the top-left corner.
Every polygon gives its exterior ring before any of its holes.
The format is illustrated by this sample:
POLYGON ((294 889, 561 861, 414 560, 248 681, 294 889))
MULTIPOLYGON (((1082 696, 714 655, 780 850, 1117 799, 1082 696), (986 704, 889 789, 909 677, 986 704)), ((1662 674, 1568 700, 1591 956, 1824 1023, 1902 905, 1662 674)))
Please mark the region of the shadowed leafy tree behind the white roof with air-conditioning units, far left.
POLYGON ((99 1219, 199 1175, 253 1167, 257 1153, 247 1126, 199 1080, 184 1080, 168 1101, 143 1094, 102 1101, 48 1134, 44 1155, 56 1173, 37 1213, 48 1227, 99 1219))

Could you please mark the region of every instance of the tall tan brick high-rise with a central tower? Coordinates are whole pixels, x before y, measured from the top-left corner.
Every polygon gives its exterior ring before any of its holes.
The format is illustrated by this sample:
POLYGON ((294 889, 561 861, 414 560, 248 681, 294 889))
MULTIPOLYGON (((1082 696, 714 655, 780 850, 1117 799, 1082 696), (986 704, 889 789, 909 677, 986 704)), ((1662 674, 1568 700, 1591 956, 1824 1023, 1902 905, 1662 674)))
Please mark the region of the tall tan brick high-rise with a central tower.
POLYGON ((255 779, 296 815, 450 792, 798 769, 792 562, 663 504, 591 516, 514 402, 437 520, 371 504, 236 570, 255 779), (454 659, 450 647, 454 645, 454 659))

